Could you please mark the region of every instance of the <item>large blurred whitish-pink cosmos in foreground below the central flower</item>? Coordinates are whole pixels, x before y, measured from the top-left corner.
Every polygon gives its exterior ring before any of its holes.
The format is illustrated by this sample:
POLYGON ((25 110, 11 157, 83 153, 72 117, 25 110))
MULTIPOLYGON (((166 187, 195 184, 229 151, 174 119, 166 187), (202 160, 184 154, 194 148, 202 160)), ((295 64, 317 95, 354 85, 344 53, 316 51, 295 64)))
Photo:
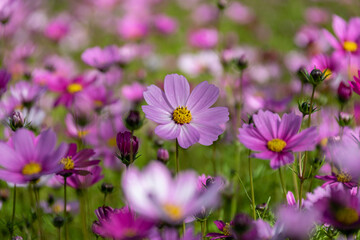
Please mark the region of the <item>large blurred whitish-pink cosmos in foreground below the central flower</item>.
POLYGON ((197 181, 195 172, 181 172, 173 178, 163 163, 153 161, 143 171, 131 166, 122 178, 122 187, 134 211, 154 220, 178 224, 203 207, 217 205, 218 186, 199 193, 197 181))

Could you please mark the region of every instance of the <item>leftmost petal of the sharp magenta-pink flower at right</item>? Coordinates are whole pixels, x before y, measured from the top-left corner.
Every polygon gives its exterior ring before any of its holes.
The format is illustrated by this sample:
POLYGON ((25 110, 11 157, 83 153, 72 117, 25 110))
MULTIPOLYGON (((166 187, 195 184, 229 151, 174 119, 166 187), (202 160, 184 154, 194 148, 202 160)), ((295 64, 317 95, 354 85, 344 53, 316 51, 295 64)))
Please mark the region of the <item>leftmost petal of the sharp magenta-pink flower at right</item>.
POLYGON ((256 128, 251 125, 244 124, 242 128, 239 129, 238 135, 239 141, 244 144, 244 146, 253 151, 267 151, 267 142, 256 128))

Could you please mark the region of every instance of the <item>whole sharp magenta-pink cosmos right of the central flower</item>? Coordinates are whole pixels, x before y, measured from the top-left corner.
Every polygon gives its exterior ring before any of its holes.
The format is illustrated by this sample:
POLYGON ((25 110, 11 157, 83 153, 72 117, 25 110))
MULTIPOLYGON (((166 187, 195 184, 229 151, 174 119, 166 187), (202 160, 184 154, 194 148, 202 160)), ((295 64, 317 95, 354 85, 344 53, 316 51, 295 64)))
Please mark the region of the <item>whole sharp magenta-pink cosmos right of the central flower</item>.
POLYGON ((293 152, 313 150, 316 145, 316 127, 299 132, 301 117, 294 113, 284 114, 260 110, 253 115, 253 124, 239 129, 239 141, 254 153, 255 158, 270 160, 273 169, 294 161, 293 152))

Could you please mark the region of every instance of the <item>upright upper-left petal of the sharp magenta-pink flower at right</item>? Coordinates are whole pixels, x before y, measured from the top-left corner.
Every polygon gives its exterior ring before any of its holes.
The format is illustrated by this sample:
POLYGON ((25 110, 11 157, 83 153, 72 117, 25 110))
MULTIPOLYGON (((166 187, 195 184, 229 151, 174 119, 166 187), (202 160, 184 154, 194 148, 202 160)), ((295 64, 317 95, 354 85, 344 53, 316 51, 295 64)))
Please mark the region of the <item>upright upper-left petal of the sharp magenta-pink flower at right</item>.
POLYGON ((260 110, 253 116, 253 120, 258 132, 264 136, 267 141, 278 138, 278 128, 280 117, 276 113, 260 110))

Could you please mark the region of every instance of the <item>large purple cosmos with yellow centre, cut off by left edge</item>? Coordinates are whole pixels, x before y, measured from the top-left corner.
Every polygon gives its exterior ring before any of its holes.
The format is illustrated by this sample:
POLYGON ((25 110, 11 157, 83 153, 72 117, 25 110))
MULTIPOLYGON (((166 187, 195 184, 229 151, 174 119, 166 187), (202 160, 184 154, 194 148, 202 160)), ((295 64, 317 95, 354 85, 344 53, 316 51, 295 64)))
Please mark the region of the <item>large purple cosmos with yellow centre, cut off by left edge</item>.
POLYGON ((57 173, 67 150, 56 145, 56 135, 47 130, 35 137, 27 129, 17 130, 6 143, 0 143, 0 179, 11 183, 27 183, 43 175, 57 173))

